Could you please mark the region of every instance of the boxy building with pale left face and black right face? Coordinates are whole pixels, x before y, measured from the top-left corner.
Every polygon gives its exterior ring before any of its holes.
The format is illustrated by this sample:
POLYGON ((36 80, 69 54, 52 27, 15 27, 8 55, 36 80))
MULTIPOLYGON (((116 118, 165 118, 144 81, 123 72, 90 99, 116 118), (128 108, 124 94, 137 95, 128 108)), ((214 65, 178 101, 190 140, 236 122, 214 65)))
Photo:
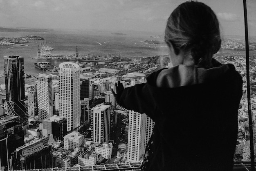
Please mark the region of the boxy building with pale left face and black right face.
POLYGON ((62 116, 53 115, 43 120, 43 136, 53 135, 55 141, 63 141, 67 134, 67 120, 62 116))

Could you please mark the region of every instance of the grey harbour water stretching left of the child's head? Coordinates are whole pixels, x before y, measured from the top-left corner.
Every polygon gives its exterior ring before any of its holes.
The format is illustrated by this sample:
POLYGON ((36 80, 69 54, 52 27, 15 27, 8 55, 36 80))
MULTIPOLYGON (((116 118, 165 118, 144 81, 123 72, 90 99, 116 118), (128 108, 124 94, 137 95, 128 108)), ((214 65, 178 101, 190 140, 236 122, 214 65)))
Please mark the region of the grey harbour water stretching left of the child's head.
MULTIPOLYGON (((122 57, 152 57, 167 54, 166 47, 156 47, 146 44, 145 40, 157 39, 150 38, 154 35, 116 35, 107 31, 75 31, 75 30, 49 30, 46 32, 0 32, 0 37, 20 37, 20 36, 40 36, 45 40, 29 40, 29 46, 0 46, 0 73, 4 72, 3 56, 18 55, 24 57, 25 73, 36 76, 42 72, 34 67, 35 62, 48 61, 54 65, 64 62, 63 60, 37 60, 38 45, 41 41, 46 41, 47 46, 54 48, 54 55, 74 55, 76 46, 78 53, 86 55, 112 55, 121 54, 122 57), (14 47, 11 49, 6 49, 14 47)), ((47 71, 48 72, 48 71, 47 71)), ((1 83, 1 81, 0 81, 1 83)))

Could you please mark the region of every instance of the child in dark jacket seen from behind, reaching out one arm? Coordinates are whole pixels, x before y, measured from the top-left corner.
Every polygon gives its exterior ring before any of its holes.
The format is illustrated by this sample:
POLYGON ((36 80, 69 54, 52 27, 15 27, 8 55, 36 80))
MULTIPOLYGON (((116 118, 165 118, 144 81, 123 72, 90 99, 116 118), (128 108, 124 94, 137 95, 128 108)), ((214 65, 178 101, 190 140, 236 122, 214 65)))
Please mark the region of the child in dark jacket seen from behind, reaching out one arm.
POLYGON ((173 67, 112 90, 119 105, 155 122, 141 170, 232 171, 243 81, 233 64, 213 58, 221 44, 216 14, 202 2, 184 2, 164 38, 173 67))

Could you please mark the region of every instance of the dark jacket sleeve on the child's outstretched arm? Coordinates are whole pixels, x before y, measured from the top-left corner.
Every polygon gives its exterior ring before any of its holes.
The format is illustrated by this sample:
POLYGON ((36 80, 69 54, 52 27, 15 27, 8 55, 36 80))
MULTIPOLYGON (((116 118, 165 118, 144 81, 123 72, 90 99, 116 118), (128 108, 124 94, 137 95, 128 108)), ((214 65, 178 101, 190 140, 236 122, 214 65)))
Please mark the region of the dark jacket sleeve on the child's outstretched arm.
POLYGON ((139 113, 146 113, 153 119, 156 105, 154 104, 152 97, 150 98, 150 94, 147 83, 136 84, 135 86, 128 87, 118 93, 116 100, 120 106, 139 113))

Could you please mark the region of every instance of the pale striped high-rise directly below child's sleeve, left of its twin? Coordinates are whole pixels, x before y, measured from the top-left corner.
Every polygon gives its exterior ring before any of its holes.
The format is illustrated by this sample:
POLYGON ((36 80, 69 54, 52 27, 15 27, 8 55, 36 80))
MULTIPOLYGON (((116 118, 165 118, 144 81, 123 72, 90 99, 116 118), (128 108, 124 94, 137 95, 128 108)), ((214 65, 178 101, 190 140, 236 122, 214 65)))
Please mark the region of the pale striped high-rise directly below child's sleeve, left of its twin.
POLYGON ((139 161, 145 152, 146 115, 129 111, 127 159, 139 161))

